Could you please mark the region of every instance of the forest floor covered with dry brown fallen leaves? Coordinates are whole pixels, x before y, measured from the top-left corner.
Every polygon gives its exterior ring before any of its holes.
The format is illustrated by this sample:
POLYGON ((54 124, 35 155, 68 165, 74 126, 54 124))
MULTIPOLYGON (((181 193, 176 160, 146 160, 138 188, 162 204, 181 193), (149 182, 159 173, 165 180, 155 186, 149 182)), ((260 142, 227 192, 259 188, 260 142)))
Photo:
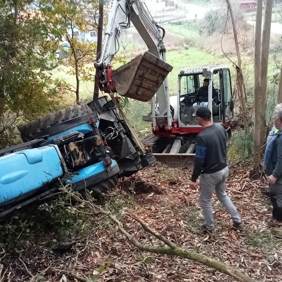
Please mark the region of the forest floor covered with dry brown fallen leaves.
MULTIPOLYGON (((271 203, 261 193, 266 185, 252 181, 248 177, 249 169, 248 164, 236 166, 227 183, 228 194, 241 214, 247 232, 231 229, 230 216, 216 197, 212 200, 215 232, 198 232, 197 227, 204 221, 197 201, 198 191, 190 190, 187 185, 191 175, 187 168, 156 165, 142 170, 120 181, 116 189, 103 197, 101 204, 104 208, 111 208, 121 218, 124 228, 143 243, 161 244, 134 220, 120 214, 120 209, 125 206, 150 227, 184 248, 237 267, 259 281, 282 281, 282 241, 271 237, 269 231, 270 227, 282 225, 272 220, 271 203)), ((34 242, 22 251, 21 259, 32 275, 52 264, 46 273, 37 277, 41 279, 38 281, 60 281, 62 278, 76 281, 68 266, 70 262, 74 265, 77 257, 75 273, 92 277, 91 281, 233 282, 227 275, 192 261, 140 252, 118 233, 107 218, 93 220, 93 230, 80 237, 80 243, 63 255, 50 252, 45 240, 34 242)), ((7 254, 2 260, 4 269, 10 265, 16 274, 11 281, 29 281, 31 277, 17 256, 7 254)))

